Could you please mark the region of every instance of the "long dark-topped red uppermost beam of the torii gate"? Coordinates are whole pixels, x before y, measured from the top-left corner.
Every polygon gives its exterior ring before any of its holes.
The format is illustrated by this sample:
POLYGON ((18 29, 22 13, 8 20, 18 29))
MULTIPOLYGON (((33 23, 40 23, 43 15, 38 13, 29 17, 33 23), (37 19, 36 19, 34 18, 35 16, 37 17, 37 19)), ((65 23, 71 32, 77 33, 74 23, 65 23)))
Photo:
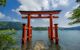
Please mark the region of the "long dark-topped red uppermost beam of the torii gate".
POLYGON ((21 14, 59 14, 61 10, 54 11, 20 11, 21 14))

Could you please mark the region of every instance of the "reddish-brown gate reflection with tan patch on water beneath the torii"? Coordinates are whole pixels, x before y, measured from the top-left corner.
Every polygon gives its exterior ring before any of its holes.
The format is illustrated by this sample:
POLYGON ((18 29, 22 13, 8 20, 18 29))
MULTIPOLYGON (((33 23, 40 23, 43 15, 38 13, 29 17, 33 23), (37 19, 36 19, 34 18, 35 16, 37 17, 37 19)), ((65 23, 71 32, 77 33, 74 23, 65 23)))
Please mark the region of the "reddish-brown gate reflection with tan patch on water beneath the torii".
POLYGON ((50 43, 47 46, 42 40, 39 40, 35 42, 34 46, 32 46, 32 42, 27 42, 27 44, 22 45, 21 49, 22 50, 60 50, 59 44, 56 45, 55 43, 50 43))

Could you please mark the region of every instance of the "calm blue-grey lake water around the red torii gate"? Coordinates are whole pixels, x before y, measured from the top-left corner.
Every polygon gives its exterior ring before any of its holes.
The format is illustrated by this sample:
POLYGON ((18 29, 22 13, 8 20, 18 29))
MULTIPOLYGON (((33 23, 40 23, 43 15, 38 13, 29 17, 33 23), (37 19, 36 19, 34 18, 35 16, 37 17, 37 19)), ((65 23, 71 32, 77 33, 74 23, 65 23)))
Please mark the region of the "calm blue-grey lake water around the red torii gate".
MULTIPOLYGON (((29 45, 34 46, 36 41, 42 40, 48 50, 80 50, 80 30, 59 30, 58 33, 59 45, 55 45, 50 44, 47 30, 33 30, 32 42, 29 45)), ((22 31, 17 31, 15 37, 17 39, 17 47, 21 47, 22 31)))

